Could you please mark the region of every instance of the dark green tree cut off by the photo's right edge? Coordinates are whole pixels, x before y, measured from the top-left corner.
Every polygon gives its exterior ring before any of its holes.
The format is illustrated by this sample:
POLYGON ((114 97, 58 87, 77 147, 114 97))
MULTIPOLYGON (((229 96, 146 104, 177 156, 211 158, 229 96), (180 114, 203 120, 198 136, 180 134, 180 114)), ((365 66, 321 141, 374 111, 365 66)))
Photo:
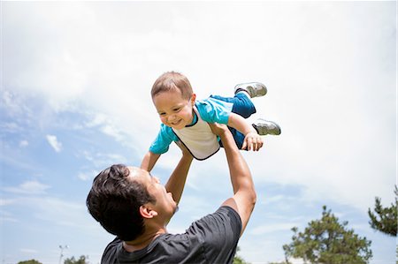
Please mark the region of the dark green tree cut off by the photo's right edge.
POLYGON ((368 215, 371 217, 371 228, 374 230, 379 230, 389 236, 396 237, 397 230, 397 207, 398 207, 398 188, 395 185, 395 204, 391 203, 391 207, 382 207, 381 199, 376 197, 374 212, 371 208, 368 210, 368 215))

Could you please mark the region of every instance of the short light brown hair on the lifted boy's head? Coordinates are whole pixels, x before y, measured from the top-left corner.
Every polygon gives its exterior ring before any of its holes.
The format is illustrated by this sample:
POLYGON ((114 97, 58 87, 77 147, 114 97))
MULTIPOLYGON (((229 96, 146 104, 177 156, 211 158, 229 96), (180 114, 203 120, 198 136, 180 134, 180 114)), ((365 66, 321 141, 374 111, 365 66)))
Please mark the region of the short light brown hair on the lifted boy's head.
POLYGON ((154 98, 157 94, 180 90, 182 98, 189 100, 194 93, 187 77, 180 72, 165 72, 155 81, 150 91, 154 98))

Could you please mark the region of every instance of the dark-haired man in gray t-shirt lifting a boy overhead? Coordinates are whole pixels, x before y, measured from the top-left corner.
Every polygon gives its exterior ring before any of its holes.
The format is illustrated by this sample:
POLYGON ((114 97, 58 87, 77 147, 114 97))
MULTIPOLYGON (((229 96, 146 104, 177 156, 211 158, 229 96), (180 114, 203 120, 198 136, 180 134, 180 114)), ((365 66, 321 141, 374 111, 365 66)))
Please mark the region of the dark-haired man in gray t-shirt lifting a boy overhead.
POLYGON ((167 184, 148 171, 123 165, 103 170, 88 193, 88 211, 117 236, 102 263, 232 263, 238 240, 256 203, 247 163, 226 125, 211 124, 226 151, 233 197, 218 210, 195 221, 183 234, 166 225, 177 209, 192 162, 185 147, 167 184))

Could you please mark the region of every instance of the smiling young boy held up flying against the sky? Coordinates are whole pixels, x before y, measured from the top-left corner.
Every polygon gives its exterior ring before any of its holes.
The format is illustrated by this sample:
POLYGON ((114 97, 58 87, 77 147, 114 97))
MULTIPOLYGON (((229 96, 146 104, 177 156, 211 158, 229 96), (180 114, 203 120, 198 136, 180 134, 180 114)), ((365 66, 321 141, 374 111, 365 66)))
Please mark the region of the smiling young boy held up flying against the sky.
POLYGON ((220 141, 208 123, 227 124, 239 148, 257 151, 263 147, 260 135, 280 134, 279 125, 271 121, 258 119, 250 125, 245 120, 256 113, 250 98, 266 92, 263 84, 254 82, 237 85, 232 98, 210 95, 208 99, 196 101, 187 77, 179 72, 165 72, 151 90, 152 102, 162 121, 160 132, 144 156, 141 168, 152 170, 172 141, 182 142, 197 160, 214 155, 220 141))

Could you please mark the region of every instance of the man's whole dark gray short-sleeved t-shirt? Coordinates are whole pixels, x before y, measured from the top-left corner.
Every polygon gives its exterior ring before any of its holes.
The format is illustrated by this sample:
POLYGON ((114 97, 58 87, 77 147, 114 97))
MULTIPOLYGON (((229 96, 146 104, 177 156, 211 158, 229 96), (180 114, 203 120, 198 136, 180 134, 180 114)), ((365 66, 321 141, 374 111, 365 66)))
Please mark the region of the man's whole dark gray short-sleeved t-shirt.
POLYGON ((241 217, 231 207, 195 221, 183 234, 163 234, 147 247, 128 253, 115 238, 103 253, 113 263, 232 263, 241 236, 241 217))

